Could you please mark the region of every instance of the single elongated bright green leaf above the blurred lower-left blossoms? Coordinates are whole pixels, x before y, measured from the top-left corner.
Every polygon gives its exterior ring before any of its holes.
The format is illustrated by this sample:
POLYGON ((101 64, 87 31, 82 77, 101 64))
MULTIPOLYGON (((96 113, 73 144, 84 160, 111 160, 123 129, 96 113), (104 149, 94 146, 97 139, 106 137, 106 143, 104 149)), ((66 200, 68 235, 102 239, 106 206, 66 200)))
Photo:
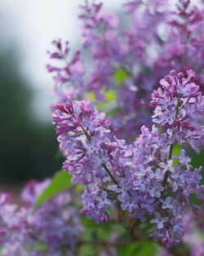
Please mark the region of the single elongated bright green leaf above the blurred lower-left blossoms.
POLYGON ((64 191, 71 184, 71 176, 69 173, 60 171, 55 174, 52 178, 51 183, 42 191, 41 195, 38 196, 34 204, 34 209, 38 208, 45 201, 50 199, 52 196, 64 191))

